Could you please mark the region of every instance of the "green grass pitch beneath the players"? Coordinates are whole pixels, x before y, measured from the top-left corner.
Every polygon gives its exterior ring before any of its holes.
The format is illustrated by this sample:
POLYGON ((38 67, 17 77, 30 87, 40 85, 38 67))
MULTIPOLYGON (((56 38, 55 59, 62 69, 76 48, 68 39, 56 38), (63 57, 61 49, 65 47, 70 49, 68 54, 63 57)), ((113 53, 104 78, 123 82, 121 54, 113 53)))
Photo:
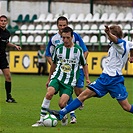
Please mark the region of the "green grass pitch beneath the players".
MULTIPOLYGON (((9 104, 5 102, 4 76, 0 75, 0 133, 133 133, 133 115, 123 111, 109 94, 86 100, 84 109, 76 110, 76 124, 61 126, 58 121, 56 127, 31 127, 39 119, 47 78, 12 74, 12 95, 18 103, 9 104)), ((96 78, 90 76, 91 81, 96 78)), ((133 103, 133 77, 125 77, 125 86, 133 103)), ((59 109, 58 99, 58 94, 53 97, 51 109, 59 109)))

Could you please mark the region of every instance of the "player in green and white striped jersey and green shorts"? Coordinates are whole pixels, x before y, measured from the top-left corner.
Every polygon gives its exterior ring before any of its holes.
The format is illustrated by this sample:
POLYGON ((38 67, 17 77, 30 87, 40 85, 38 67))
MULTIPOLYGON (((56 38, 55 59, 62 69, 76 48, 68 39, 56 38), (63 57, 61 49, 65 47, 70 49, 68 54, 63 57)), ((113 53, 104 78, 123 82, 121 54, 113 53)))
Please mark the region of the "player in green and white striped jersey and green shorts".
POLYGON ((47 93, 44 97, 40 120, 33 124, 33 127, 43 126, 43 118, 50 106, 50 101, 54 94, 59 92, 59 106, 63 108, 67 105, 70 96, 73 93, 73 87, 76 86, 77 79, 80 74, 80 65, 83 66, 86 82, 90 83, 88 76, 88 66, 83 55, 81 47, 74 44, 73 30, 65 27, 62 30, 63 44, 58 45, 53 53, 53 61, 46 85, 47 93))

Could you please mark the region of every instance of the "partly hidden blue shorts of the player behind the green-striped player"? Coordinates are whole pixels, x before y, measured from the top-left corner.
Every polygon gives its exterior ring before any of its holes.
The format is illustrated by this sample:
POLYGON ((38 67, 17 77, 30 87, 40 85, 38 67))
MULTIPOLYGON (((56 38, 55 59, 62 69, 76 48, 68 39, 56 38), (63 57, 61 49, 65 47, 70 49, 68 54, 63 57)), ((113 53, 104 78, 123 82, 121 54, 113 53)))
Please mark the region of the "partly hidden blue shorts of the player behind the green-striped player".
POLYGON ((80 69, 80 76, 76 84, 77 88, 83 88, 84 87, 84 71, 83 69, 80 69))

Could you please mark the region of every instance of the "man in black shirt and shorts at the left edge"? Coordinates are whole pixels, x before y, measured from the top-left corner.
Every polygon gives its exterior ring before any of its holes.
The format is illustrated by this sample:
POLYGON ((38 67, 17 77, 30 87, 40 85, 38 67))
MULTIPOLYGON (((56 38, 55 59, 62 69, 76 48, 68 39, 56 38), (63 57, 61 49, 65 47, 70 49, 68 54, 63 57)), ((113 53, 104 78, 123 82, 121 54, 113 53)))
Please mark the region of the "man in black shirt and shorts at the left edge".
POLYGON ((5 50, 6 46, 14 47, 17 50, 21 50, 21 47, 9 42, 10 32, 6 29, 7 21, 8 19, 5 15, 0 16, 0 69, 5 77, 6 102, 16 103, 11 95, 11 74, 5 50))

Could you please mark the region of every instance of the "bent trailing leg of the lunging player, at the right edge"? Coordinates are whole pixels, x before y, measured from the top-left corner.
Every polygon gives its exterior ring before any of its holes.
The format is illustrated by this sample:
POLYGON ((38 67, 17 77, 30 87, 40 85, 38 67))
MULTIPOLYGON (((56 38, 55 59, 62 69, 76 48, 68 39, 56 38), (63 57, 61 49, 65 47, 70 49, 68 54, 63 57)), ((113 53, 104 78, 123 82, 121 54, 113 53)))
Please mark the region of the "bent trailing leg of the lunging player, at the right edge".
POLYGON ((133 113, 133 105, 129 104, 127 98, 118 102, 125 111, 133 113))

